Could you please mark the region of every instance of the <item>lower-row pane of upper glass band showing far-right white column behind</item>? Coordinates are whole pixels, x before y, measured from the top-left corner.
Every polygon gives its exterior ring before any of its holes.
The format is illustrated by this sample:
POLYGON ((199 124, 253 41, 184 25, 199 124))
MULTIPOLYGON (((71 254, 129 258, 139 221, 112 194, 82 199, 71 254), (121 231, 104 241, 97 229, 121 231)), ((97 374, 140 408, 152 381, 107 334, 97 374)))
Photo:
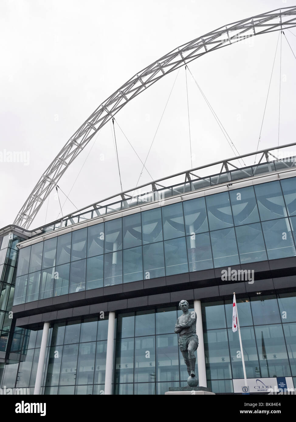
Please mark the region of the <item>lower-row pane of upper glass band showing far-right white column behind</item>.
POLYGON ((296 255, 288 218, 264 221, 262 229, 269 260, 296 255))

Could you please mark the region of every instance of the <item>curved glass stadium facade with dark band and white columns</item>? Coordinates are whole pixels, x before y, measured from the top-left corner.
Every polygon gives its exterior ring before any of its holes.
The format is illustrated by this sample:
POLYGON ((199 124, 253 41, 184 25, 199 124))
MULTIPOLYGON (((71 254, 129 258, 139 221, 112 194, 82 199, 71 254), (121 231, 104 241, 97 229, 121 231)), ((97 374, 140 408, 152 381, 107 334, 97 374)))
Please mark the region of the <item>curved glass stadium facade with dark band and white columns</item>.
POLYGON ((198 316, 200 385, 240 392, 233 292, 249 383, 296 385, 296 159, 265 157, 234 170, 228 160, 209 177, 186 172, 32 231, 3 228, 1 392, 187 385, 174 334, 181 299, 198 316))

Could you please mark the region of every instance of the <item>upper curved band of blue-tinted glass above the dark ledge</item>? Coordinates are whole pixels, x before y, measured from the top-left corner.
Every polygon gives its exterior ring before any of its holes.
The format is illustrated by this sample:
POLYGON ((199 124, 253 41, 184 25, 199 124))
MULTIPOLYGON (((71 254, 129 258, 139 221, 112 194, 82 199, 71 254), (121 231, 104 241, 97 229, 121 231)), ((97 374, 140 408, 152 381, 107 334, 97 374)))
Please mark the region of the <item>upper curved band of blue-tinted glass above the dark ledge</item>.
POLYGON ((296 256, 295 197, 296 178, 272 181, 131 214, 24 247, 14 305, 296 256))

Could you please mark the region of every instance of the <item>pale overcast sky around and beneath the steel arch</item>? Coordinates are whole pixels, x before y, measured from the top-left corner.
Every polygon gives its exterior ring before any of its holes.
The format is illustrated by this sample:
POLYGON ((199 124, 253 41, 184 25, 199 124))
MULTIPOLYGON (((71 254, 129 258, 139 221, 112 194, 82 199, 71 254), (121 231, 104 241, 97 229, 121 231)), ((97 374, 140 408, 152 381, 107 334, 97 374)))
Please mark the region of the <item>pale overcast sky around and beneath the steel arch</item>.
MULTIPOLYGON (((3 156, 7 151, 22 151, 25 162, 0 162, 0 227, 13 223, 62 146, 131 76, 168 51, 217 27, 293 3, 1 0, 0 151, 3 156)), ((285 35, 296 55, 296 29, 291 32, 285 31, 285 35)), ((257 148, 278 35, 274 32, 252 37, 189 65, 240 154, 257 148)), ((280 44, 259 149, 276 146, 278 141, 279 52, 280 44)), ((296 60, 284 36, 281 58, 283 145, 296 141, 296 60)), ((116 116, 142 161, 176 76, 177 72, 166 76, 116 116)), ((233 157, 194 81, 188 74, 187 78, 193 167, 233 157)), ((136 186, 142 165, 120 130, 115 130, 122 188, 131 189, 136 186)), ((191 168, 184 67, 179 71, 146 166, 153 179, 191 168)), ((144 171, 139 183, 149 180, 144 171)), ((67 195, 72 188, 69 198, 77 208, 121 190, 109 123, 81 152, 58 185, 67 195)), ((71 202, 64 204, 65 196, 59 193, 63 215, 75 211, 71 202)), ((57 219, 59 213, 60 204, 53 191, 30 229, 57 219)))

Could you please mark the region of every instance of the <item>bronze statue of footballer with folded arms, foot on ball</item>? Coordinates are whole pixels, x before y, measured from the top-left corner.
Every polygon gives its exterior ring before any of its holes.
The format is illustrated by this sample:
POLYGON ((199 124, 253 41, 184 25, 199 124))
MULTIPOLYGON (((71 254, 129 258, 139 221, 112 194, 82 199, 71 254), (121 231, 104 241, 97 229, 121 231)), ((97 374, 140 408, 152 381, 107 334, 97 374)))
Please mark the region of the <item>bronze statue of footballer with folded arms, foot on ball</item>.
POLYGON ((179 348, 189 374, 187 382, 192 385, 193 379, 191 380, 190 376, 196 378, 196 357, 194 352, 198 348, 198 336, 196 335, 196 313, 194 311, 188 311, 189 303, 187 300, 181 300, 179 308, 182 309, 183 314, 177 319, 174 331, 179 334, 179 348))

